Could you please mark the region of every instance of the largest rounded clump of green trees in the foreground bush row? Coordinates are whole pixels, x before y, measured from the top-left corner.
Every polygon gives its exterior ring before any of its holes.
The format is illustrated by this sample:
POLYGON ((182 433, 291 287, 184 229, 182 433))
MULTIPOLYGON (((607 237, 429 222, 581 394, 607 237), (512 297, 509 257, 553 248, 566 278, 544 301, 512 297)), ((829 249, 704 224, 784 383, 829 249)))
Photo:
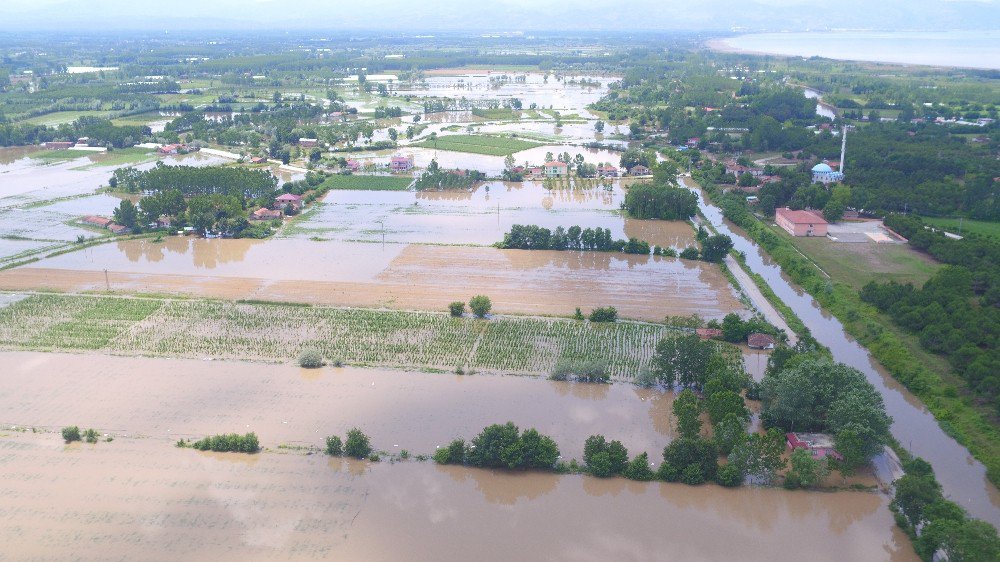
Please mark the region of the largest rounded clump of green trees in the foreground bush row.
POLYGON ((559 447, 534 428, 522 433, 513 422, 507 422, 484 428, 468 445, 462 439, 452 441, 434 453, 434 460, 478 468, 554 470, 559 447))

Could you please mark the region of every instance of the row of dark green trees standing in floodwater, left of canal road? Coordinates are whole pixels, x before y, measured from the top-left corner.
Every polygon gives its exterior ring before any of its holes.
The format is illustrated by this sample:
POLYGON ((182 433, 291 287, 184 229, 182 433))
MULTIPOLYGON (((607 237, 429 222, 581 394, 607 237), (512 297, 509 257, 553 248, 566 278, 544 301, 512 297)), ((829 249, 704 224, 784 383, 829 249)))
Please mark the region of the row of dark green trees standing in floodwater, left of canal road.
POLYGON ((508 250, 593 250, 648 255, 649 243, 636 238, 614 240, 607 228, 559 226, 555 231, 537 225, 515 224, 504 234, 500 248, 508 250))

